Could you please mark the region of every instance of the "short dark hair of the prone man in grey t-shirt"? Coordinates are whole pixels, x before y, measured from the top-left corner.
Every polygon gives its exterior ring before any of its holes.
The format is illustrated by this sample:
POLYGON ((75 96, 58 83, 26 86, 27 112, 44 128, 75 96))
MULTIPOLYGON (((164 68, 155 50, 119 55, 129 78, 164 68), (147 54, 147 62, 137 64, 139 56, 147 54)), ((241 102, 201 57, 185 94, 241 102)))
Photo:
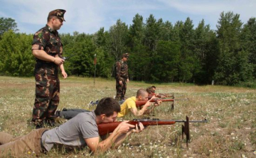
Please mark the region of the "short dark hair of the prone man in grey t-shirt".
POLYGON ((105 114, 107 117, 110 117, 110 115, 113 115, 114 111, 119 113, 121 111, 120 105, 114 98, 107 97, 102 98, 97 104, 95 114, 105 114))

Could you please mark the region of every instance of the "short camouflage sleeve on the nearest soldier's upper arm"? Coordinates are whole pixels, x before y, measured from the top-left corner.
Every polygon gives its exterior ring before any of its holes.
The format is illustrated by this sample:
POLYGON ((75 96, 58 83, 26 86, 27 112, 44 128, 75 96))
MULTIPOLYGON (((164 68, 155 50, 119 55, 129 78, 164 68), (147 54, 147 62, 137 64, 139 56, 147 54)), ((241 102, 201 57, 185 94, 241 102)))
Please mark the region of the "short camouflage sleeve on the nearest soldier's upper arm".
POLYGON ((33 35, 32 50, 44 50, 49 40, 49 32, 43 29, 33 35))

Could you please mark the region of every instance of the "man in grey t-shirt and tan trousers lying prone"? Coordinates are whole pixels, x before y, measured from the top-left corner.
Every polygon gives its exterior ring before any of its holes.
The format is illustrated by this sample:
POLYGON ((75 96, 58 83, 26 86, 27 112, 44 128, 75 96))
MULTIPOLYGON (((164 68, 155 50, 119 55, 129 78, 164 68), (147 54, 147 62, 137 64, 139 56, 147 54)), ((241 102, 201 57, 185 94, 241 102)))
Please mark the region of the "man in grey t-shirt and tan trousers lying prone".
POLYGON ((0 157, 25 157, 28 152, 38 155, 58 145, 87 146, 92 152, 105 152, 110 147, 122 144, 132 132, 142 132, 144 129, 142 123, 135 126, 124 121, 109 137, 100 141, 97 124, 115 122, 119 111, 119 103, 114 98, 102 98, 95 111, 79 113, 57 128, 41 128, 16 138, 6 132, 0 132, 0 157))

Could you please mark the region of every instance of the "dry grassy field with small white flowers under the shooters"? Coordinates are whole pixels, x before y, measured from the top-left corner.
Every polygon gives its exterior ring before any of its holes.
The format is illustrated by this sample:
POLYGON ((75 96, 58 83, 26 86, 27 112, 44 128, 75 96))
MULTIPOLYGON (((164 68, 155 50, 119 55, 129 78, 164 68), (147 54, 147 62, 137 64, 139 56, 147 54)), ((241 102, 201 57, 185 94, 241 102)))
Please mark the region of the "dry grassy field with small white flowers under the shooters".
MULTIPOLYGON (((159 119, 207 119, 208 123, 191 123, 191 142, 181 139, 181 125, 151 126, 133 134, 118 149, 90 157, 256 157, 256 90, 230 86, 194 86, 191 84, 154 84, 157 93, 173 93, 171 103, 162 103, 154 110, 159 119), (185 96, 178 97, 178 94, 185 96)), ((151 84, 131 81, 127 96, 151 84)), ((115 95, 115 81, 69 77, 60 81, 59 108, 85 108, 90 101, 115 95)), ((25 135, 33 130, 31 113, 35 99, 35 81, 31 78, 0 77, 0 131, 25 135)), ((92 110, 92 108, 90 109, 92 110)), ((129 119, 129 118, 128 118, 129 119)), ((85 157, 87 149, 66 152, 56 150, 41 157, 85 157)), ((29 153, 24 157, 29 157, 29 153)), ((31 154, 33 157, 33 154, 31 154)))

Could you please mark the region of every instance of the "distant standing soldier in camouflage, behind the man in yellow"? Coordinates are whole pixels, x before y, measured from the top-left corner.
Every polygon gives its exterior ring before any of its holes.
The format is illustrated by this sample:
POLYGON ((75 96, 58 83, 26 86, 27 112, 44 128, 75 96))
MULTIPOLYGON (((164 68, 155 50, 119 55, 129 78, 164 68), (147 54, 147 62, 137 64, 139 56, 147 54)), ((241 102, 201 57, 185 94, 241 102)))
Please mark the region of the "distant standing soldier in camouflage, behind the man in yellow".
POLYGON ((116 95, 115 99, 117 101, 124 100, 124 96, 125 96, 126 89, 127 89, 126 81, 129 82, 128 65, 127 65, 128 57, 129 57, 129 54, 124 53, 122 55, 122 59, 116 63, 116 77, 115 78, 116 78, 117 95, 116 95))

